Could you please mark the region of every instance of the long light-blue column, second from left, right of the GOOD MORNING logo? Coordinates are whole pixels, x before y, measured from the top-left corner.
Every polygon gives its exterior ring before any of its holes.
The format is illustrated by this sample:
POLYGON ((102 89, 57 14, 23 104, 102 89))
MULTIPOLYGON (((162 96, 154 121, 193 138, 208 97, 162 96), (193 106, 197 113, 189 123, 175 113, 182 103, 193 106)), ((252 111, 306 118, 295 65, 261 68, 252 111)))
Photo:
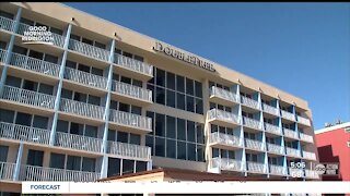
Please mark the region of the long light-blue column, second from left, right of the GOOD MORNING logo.
POLYGON ((65 38, 65 45, 63 45, 65 51, 63 51, 61 66, 60 66, 59 76, 58 76, 59 82, 58 82, 56 100, 55 100, 55 108, 54 108, 55 113, 54 113, 54 118, 52 118, 52 126, 51 126, 51 132, 50 132, 50 143, 49 143, 50 146, 55 145, 56 126, 57 126, 57 120, 58 120, 58 109, 59 109, 59 102, 61 99, 61 91, 62 91, 62 85, 63 85, 63 74, 65 74, 65 68, 66 68, 71 29, 72 29, 72 24, 69 24, 67 32, 66 32, 66 38, 65 38))

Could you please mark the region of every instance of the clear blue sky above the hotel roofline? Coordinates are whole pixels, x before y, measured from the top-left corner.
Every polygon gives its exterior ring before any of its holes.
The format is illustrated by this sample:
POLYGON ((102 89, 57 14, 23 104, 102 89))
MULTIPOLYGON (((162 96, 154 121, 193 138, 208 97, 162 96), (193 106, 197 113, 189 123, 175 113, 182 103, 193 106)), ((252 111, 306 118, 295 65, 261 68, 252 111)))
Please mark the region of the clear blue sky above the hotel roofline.
POLYGON ((350 3, 66 3, 308 101, 315 130, 350 121, 350 3))

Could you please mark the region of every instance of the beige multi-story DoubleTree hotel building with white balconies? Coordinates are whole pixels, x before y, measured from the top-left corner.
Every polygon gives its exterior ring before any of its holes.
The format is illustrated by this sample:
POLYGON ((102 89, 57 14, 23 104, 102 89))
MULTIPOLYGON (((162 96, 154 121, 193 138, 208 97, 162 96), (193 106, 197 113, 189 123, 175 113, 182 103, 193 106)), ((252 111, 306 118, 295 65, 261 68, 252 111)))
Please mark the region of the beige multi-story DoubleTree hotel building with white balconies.
POLYGON ((60 3, 0 9, 5 187, 156 167, 318 177, 306 101, 60 3), (52 45, 24 44, 31 26, 52 45))

